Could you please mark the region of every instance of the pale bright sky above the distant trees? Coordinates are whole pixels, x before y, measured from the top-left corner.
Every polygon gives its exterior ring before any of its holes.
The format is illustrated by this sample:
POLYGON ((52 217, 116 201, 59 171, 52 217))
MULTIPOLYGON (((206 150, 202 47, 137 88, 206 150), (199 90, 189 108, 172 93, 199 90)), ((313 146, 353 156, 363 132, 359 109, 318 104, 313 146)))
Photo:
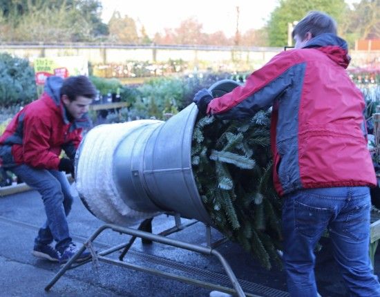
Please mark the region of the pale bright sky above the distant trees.
POLYGON ((105 23, 117 10, 137 21, 137 26, 140 21, 151 37, 164 28, 178 28, 189 17, 196 17, 203 24, 204 32, 222 30, 231 37, 236 31, 236 6, 240 8, 239 30, 245 32, 263 27, 278 6, 278 0, 102 0, 102 6, 105 23))

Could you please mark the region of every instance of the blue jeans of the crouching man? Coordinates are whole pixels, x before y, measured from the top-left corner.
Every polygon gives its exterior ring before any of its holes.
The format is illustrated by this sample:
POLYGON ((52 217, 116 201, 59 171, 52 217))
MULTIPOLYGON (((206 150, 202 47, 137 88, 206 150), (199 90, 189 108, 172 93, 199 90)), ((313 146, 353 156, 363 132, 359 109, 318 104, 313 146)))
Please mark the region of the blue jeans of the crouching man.
POLYGON ((71 242, 66 217, 73 204, 66 175, 57 170, 35 169, 26 164, 9 170, 37 190, 44 202, 47 220, 39 229, 35 243, 48 245, 55 240, 55 249, 63 251, 71 242))

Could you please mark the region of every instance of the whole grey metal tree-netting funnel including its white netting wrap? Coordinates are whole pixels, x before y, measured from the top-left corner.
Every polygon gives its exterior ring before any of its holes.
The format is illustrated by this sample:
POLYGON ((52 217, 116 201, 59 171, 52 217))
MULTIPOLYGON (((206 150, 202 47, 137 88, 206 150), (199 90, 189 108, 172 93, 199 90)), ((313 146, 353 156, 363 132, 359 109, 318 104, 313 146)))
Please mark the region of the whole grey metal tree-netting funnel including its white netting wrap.
MULTIPOLYGON (((214 97, 238 84, 209 88, 214 97)), ((121 225, 160 212, 212 224, 191 168, 191 141, 198 108, 190 104, 167 122, 137 120, 93 128, 76 157, 77 189, 97 218, 121 225)))

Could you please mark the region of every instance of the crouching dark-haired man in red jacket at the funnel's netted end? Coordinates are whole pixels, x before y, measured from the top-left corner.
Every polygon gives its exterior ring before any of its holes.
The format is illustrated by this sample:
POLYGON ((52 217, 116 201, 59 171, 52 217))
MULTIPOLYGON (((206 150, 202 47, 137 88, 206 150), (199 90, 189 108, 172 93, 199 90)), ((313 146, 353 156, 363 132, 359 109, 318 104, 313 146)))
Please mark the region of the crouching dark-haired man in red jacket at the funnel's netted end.
MULTIPOLYGON (((74 174, 75 152, 82 131, 91 127, 87 112, 95 96, 95 86, 83 75, 48 77, 41 97, 19 111, 0 137, 0 165, 36 189, 44 202, 47 220, 32 251, 37 257, 67 262, 78 250, 66 220, 73 196, 64 172, 74 174), (62 149, 67 157, 59 158, 62 149)), ((79 260, 88 256, 85 251, 79 260)))

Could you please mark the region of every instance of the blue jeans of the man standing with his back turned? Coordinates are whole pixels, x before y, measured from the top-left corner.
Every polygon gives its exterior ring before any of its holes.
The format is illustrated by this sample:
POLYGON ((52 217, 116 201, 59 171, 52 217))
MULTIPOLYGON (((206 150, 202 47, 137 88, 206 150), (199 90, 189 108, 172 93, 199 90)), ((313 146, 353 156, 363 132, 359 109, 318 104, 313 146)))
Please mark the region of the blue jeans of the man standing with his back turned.
POLYGON ((366 186, 285 195, 283 260, 290 296, 317 296, 314 247, 326 229, 350 296, 380 296, 369 256, 370 207, 366 186))

